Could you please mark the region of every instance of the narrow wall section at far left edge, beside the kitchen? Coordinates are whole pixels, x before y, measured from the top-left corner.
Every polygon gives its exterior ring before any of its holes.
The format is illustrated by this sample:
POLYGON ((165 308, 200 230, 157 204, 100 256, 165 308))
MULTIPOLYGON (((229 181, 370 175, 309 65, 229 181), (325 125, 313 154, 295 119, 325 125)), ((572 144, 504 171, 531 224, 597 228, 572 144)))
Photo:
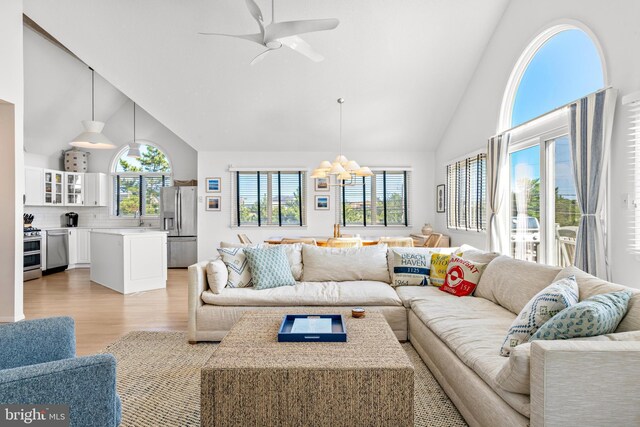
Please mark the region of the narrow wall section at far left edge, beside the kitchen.
POLYGON ((0 2, 0 322, 24 318, 22 303, 22 0, 0 2))

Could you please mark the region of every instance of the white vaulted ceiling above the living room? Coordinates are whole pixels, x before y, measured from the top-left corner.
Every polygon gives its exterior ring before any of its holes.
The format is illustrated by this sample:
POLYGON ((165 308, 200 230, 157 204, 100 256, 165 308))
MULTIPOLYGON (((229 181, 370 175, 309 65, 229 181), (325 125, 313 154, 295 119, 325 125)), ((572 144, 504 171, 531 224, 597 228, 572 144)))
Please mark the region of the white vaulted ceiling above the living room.
MULTIPOLYGON (((257 0, 265 19, 270 2, 257 0)), ((199 31, 252 33, 241 0, 25 0, 25 13, 197 150, 433 150, 507 0, 277 0, 276 20, 335 17, 314 63, 199 31)), ((69 138, 74 135, 70 135, 69 138)))

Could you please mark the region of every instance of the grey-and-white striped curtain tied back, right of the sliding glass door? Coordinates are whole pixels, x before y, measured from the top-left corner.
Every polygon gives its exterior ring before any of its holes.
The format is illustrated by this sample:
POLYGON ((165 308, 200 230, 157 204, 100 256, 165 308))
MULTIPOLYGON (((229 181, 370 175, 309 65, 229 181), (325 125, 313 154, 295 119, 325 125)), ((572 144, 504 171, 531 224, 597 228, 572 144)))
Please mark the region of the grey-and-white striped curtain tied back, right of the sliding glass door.
POLYGON ((573 179, 582 213, 575 265, 602 279, 609 279, 602 213, 617 96, 617 90, 606 89, 569 106, 573 179))

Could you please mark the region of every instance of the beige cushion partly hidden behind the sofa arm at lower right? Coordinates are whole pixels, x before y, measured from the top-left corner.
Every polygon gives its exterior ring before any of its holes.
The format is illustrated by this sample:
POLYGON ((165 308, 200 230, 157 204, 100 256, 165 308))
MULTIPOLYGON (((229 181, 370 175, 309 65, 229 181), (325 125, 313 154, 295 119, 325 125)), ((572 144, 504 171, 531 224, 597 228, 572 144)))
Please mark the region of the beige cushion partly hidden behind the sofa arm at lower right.
MULTIPOLYGON (((640 341, 640 331, 619 332, 595 337, 574 338, 571 341, 640 341)), ((514 347, 506 363, 496 377, 498 385, 514 393, 530 393, 531 343, 514 347)))

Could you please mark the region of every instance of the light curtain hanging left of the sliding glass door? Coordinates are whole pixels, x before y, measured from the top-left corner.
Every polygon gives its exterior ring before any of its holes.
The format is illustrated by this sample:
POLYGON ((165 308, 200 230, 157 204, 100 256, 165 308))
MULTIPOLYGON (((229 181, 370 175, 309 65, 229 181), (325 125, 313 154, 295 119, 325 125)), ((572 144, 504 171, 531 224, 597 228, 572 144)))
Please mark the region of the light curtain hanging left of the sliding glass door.
POLYGON ((489 250, 501 254, 509 253, 500 216, 503 200, 508 195, 509 137, 508 133, 493 136, 487 147, 487 239, 489 250))

